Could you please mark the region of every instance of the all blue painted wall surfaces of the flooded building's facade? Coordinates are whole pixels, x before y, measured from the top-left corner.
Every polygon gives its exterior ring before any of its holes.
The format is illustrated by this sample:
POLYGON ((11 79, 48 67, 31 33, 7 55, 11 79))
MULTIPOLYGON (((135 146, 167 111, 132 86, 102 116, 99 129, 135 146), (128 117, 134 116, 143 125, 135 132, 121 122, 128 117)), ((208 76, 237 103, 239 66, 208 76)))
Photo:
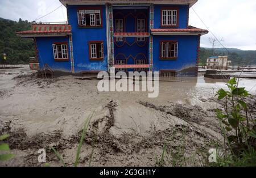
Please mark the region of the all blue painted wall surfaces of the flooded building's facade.
MULTIPOLYGON (((155 5, 154 11, 154 28, 160 28, 160 9, 166 7, 166 5, 155 5)), ((187 28, 187 5, 174 5, 168 7, 179 7, 179 28, 187 28)), ((80 73, 81 71, 88 70, 102 70, 108 71, 108 52, 106 44, 106 12, 105 6, 71 6, 68 9, 69 24, 72 26, 73 33, 73 54, 75 63, 75 72, 80 73), (102 8, 102 28, 81 28, 77 24, 77 9, 79 7, 101 7, 102 8), (104 60, 103 61, 90 61, 89 60, 89 41, 104 41, 104 60)), ((143 12, 147 15, 148 22, 148 10, 114 10, 114 14, 121 11, 127 15, 130 12, 137 14, 143 12)), ((118 18, 118 16, 116 17, 118 18)), ((147 23, 147 28, 149 24, 147 23)), ((148 29, 147 29, 148 30, 148 29)), ((127 18, 126 20, 126 32, 135 32, 135 19, 127 18)), ((148 39, 146 38, 146 45, 140 47, 137 44, 129 46, 127 44, 122 47, 115 45, 115 56, 122 53, 126 57, 129 55, 135 57, 138 53, 145 54, 148 61, 148 39)), ((154 36, 153 45, 153 70, 159 71, 161 69, 172 69, 176 70, 180 75, 196 75, 196 58, 197 58, 197 45, 199 43, 198 36, 154 36), (161 40, 177 40, 179 43, 178 58, 177 60, 160 60, 160 41, 161 40)), ((61 70, 71 72, 71 62, 56 62, 53 58, 52 44, 54 42, 69 41, 68 37, 37 37, 36 38, 38 50, 39 50, 39 61, 40 67, 43 67, 43 63, 48 63, 53 70, 61 70)), ((132 44, 135 41, 134 37, 127 37, 127 43, 132 44)), ((118 43, 119 45, 122 42, 118 43)), ((140 45, 143 42, 139 42, 140 45)), ((69 48, 69 46, 68 46, 69 48)), ((142 56, 138 56, 141 59, 142 56)), ((70 59, 70 54, 69 54, 70 59)), ((118 57, 122 59, 122 57, 118 57)), ((132 57, 129 58, 128 64, 134 64, 132 57)))

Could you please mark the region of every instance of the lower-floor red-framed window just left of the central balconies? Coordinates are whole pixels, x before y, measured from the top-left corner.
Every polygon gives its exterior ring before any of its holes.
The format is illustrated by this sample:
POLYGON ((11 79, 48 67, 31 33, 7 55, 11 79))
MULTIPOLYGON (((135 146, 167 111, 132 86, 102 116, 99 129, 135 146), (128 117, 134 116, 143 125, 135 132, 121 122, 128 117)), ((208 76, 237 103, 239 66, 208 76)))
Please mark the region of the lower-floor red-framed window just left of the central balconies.
POLYGON ((103 41, 89 42, 89 57, 90 57, 90 60, 103 60, 104 58, 103 41))

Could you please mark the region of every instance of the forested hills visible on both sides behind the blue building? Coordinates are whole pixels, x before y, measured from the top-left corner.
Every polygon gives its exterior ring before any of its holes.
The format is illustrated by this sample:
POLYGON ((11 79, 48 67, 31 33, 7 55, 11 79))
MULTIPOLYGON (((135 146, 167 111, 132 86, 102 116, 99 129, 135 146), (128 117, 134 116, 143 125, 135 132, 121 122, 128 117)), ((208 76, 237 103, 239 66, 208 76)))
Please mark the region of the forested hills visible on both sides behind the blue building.
MULTIPOLYGON (((6 63, 28 63, 30 57, 35 56, 34 41, 24 40, 16 35, 17 31, 31 29, 31 23, 22 19, 19 22, 0 18, 0 63, 3 62, 3 53, 7 55, 6 63)), ((232 65, 256 65, 256 50, 240 50, 228 48, 214 49, 215 56, 228 55, 232 65)), ((205 65, 207 58, 213 56, 212 49, 200 49, 200 65, 205 65)))

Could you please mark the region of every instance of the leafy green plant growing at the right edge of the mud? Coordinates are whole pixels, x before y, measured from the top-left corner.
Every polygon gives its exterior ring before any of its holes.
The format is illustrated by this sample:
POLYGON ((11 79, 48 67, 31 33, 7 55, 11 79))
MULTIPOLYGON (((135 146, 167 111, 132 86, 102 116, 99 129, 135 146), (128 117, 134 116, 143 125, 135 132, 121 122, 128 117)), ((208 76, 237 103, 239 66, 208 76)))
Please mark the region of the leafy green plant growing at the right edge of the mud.
POLYGON ((249 92, 238 87, 236 78, 230 79, 226 85, 229 91, 217 91, 218 100, 224 100, 222 111, 216 109, 217 118, 224 124, 222 133, 234 155, 241 155, 251 147, 255 149, 256 120, 248 108, 249 92))

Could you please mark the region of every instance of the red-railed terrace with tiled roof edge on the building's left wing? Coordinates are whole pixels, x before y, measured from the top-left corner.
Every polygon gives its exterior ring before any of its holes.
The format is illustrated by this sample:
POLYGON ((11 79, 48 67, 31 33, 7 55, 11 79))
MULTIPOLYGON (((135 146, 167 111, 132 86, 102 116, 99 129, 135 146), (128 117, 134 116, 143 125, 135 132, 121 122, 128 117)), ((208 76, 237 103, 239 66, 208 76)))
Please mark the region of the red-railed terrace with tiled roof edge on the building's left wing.
POLYGON ((18 35, 71 33, 71 26, 69 24, 32 24, 31 30, 16 33, 18 35))

